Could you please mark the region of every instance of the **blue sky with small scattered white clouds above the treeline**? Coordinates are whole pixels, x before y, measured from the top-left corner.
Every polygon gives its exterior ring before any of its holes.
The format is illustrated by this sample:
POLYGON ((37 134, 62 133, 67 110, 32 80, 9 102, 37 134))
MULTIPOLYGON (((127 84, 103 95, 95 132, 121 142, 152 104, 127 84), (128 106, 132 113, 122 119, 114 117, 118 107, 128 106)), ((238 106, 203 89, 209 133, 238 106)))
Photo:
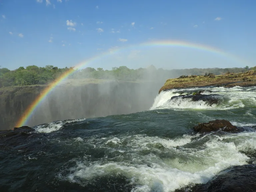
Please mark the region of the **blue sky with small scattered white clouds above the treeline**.
POLYGON ((256 65, 256 1, 2 0, 0 65, 75 66, 113 48, 183 40, 233 54, 233 60, 187 48, 132 46, 87 66, 150 64, 165 69, 256 65))

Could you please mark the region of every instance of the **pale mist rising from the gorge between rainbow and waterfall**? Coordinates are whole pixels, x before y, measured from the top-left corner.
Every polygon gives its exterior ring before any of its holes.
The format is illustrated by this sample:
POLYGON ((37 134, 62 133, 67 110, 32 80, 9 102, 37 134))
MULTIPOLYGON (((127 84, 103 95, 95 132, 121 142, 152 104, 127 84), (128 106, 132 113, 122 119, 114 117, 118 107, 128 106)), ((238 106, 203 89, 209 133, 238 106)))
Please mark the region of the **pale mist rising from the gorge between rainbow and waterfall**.
POLYGON ((136 113, 149 110, 166 79, 146 69, 137 82, 68 79, 56 87, 37 107, 27 126, 66 119, 136 113))

